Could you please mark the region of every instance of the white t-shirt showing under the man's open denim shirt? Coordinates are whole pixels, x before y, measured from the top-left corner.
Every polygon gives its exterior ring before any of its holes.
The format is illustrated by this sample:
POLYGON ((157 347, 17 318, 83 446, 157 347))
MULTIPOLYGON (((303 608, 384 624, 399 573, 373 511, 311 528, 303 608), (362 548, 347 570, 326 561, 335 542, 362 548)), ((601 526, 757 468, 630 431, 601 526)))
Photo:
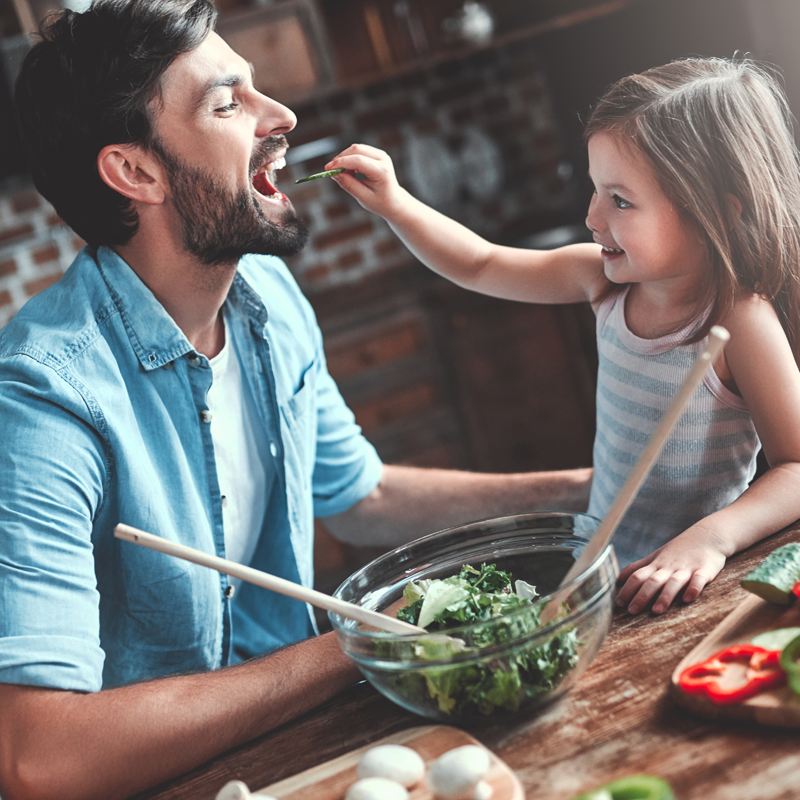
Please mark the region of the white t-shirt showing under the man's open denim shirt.
MULTIPOLYGON (((214 376, 208 390, 211 438, 217 462, 225 531, 225 555, 231 561, 249 564, 253 557, 264 516, 270 481, 270 464, 265 457, 264 433, 252 392, 242 380, 239 357, 225 322, 225 345, 211 359, 214 376)), ((241 581, 231 579, 238 586, 241 581)))

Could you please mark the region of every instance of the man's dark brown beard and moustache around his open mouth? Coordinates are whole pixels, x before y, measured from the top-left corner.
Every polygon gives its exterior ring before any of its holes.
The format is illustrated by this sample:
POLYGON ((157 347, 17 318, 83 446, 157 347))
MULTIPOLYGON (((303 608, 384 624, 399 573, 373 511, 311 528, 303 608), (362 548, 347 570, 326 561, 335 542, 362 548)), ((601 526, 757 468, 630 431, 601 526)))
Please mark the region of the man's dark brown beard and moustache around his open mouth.
MULTIPOLYGON (((264 139, 250 159, 250 175, 285 146, 282 136, 264 139)), ((305 246, 308 227, 292 209, 272 222, 259 206, 255 189, 227 191, 209 170, 190 166, 158 139, 151 141, 150 149, 167 171, 183 246, 200 263, 236 264, 247 253, 291 256, 305 246)))

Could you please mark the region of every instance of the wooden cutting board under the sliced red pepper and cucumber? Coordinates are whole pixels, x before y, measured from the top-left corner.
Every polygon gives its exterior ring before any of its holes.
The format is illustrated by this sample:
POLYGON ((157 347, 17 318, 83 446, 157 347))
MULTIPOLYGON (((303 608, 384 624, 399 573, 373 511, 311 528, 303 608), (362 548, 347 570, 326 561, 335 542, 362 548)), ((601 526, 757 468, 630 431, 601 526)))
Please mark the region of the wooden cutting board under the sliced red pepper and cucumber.
MULTIPOLYGON (((670 681, 672 697, 688 711, 715 720, 800 728, 800 696, 788 686, 762 692, 742 703, 717 705, 703 695, 686 694, 678 684, 678 678, 686 667, 704 661, 725 647, 746 644, 753 636, 764 631, 797 627, 800 627, 800 602, 778 606, 748 594, 741 605, 725 617, 675 668, 670 681)), ((744 675, 743 668, 741 674, 744 675)))

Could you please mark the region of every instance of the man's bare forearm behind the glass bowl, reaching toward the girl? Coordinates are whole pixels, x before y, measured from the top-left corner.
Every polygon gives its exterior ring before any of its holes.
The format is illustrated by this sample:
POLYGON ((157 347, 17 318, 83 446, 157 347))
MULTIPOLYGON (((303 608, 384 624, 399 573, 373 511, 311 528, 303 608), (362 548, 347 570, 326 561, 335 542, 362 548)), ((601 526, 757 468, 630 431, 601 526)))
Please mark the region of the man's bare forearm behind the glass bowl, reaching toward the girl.
POLYGON ((339 540, 395 547, 434 531, 526 511, 585 511, 591 469, 511 475, 384 466, 374 491, 325 517, 339 540))

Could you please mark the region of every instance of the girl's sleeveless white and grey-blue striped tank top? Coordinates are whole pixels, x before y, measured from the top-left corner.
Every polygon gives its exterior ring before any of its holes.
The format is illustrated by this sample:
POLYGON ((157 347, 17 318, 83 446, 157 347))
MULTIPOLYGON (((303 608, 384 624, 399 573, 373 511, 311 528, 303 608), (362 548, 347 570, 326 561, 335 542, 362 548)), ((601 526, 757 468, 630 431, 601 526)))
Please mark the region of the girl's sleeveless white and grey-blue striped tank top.
MULTIPOLYGON (((640 339, 625 323, 628 288, 597 310, 597 432, 589 514, 603 518, 705 340, 697 323, 640 339)), ((760 448, 744 400, 706 373, 614 534, 620 567, 666 544, 747 488, 760 448)))

